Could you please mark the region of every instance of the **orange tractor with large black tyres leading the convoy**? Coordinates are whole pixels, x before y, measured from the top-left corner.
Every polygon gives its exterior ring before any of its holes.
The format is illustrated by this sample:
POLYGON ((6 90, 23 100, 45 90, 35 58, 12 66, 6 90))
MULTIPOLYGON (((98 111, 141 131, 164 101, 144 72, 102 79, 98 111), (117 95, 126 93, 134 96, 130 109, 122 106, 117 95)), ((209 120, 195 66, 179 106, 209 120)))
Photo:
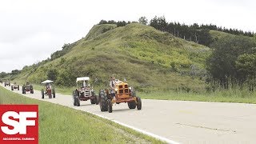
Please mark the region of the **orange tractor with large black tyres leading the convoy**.
MULTIPOLYGON (((125 80, 126 81, 126 80, 125 80)), ((119 104, 127 102, 130 109, 142 110, 142 100, 136 96, 133 87, 130 87, 128 83, 116 80, 114 82, 114 90, 105 89, 99 91, 99 106, 101 111, 109 111, 112 113, 113 104, 119 104)))

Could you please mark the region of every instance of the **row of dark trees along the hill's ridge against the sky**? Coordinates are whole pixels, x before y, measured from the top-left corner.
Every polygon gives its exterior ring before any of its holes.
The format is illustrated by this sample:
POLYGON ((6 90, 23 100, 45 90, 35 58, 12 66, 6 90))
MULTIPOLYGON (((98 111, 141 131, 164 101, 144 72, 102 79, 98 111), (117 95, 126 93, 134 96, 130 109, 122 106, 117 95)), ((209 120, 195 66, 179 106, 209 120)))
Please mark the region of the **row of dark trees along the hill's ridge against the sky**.
MULTIPOLYGON (((116 24, 117 26, 126 26, 127 24, 130 24, 132 22, 128 21, 118 21, 115 22, 114 20, 106 21, 101 20, 98 24, 116 24)), ((142 23, 145 25, 149 25, 154 27, 157 30, 166 31, 170 34, 173 34, 175 37, 183 38, 187 41, 193 41, 199 44, 202 44, 204 46, 210 46, 212 42, 214 42, 214 39, 210 36, 210 30, 218 30, 222 31, 228 34, 234 34, 234 35, 243 35, 248 37, 254 37, 254 33, 250 31, 243 31, 238 29, 227 29, 222 26, 216 26, 216 25, 208 25, 208 24, 202 24, 198 25, 198 23, 194 23, 193 25, 186 25, 181 24, 179 22, 166 22, 166 18, 164 16, 157 17, 155 16, 148 22, 146 17, 141 17, 138 19, 138 22, 136 23, 142 23)))

